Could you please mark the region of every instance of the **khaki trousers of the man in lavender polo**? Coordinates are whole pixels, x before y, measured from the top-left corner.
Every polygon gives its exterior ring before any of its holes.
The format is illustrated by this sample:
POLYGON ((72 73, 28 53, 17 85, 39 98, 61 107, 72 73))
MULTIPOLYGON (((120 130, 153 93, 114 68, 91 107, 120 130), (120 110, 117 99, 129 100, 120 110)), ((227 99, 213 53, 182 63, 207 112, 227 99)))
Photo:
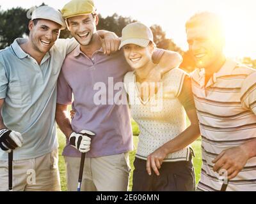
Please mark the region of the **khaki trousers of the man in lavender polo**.
MULTIPOLYGON (((68 191, 77 191, 79 157, 65 157, 68 191)), ((127 191, 129 184, 129 154, 86 158, 81 191, 127 191)))

